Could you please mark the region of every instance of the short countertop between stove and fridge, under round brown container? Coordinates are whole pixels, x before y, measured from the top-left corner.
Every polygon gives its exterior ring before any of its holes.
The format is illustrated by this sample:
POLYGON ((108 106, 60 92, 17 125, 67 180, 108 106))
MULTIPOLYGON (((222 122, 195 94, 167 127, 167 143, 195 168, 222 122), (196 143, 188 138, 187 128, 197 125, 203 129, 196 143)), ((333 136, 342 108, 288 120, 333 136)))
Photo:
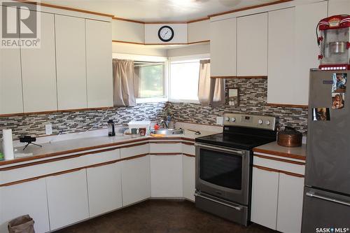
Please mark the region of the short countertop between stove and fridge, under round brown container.
POLYGON ((285 147, 279 146, 277 142, 274 141, 255 147, 253 151, 281 157, 290 157, 297 160, 306 160, 306 144, 302 144, 300 147, 285 147))

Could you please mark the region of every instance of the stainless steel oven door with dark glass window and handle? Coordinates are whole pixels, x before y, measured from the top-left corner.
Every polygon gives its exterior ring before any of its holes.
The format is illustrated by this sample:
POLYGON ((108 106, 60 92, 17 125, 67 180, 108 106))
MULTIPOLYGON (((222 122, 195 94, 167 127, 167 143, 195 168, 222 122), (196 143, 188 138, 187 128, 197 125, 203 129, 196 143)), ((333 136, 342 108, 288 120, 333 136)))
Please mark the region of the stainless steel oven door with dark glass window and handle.
POLYGON ((196 143, 196 190, 248 205, 250 157, 249 150, 196 143))

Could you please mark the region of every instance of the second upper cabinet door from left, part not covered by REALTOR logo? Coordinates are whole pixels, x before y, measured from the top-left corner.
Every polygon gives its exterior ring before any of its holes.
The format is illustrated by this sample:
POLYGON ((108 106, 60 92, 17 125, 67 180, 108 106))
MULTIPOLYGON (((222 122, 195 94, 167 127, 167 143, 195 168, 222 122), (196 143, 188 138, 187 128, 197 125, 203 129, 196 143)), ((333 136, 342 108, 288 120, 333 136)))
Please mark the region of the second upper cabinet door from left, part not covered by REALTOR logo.
POLYGON ((41 13, 40 48, 22 53, 23 101, 25 113, 57 110, 55 20, 41 13))

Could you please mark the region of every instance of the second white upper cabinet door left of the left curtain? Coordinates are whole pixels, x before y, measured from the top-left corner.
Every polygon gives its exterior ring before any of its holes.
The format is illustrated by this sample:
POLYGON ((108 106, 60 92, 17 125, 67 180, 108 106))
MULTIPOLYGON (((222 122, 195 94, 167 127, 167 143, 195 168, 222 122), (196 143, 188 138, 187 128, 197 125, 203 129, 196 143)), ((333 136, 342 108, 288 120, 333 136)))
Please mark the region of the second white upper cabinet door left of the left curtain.
POLYGON ((87 108, 85 19, 55 15, 58 109, 87 108))

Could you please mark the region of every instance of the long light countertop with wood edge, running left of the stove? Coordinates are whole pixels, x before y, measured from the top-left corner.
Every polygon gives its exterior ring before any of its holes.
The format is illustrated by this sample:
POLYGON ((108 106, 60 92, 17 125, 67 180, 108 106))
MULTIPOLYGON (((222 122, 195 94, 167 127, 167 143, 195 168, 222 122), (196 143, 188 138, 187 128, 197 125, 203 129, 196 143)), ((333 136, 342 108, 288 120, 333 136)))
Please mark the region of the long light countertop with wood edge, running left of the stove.
MULTIPOLYGON (((7 164, 15 164, 19 162, 27 162, 31 160, 39 160, 46 157, 54 157, 58 155, 68 155, 71 153, 78 153, 87 150, 96 150, 98 148, 107 148, 111 146, 120 146, 127 143, 137 143, 141 141, 162 141, 162 140, 184 140, 195 141, 198 136, 207 136, 210 134, 216 134, 216 132, 206 132, 201 130, 200 135, 196 135, 195 132, 190 132, 185 129, 184 134, 167 135, 162 137, 154 136, 92 136, 82 139, 69 139, 64 141, 52 141, 51 143, 40 143, 42 147, 29 145, 25 150, 25 153, 32 153, 32 155, 26 157, 17 157, 14 160, 1 160, 0 166, 7 164)), ((19 152, 22 151, 24 146, 16 147, 19 152)))

